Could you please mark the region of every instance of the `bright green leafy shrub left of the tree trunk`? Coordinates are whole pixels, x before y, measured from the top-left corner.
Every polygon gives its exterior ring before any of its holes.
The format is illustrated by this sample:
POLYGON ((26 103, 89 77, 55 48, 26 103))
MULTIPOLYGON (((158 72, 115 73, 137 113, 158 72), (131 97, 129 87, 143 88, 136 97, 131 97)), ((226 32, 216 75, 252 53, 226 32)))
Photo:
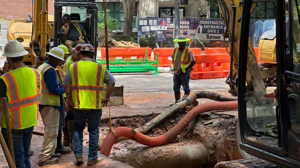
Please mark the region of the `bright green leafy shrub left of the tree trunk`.
MULTIPOLYGON (((110 12, 109 9, 106 9, 107 15, 107 30, 116 30, 120 26, 120 22, 113 17, 110 17, 108 13, 110 12)), ((104 13, 98 12, 98 29, 104 29, 105 22, 104 22, 104 13)))

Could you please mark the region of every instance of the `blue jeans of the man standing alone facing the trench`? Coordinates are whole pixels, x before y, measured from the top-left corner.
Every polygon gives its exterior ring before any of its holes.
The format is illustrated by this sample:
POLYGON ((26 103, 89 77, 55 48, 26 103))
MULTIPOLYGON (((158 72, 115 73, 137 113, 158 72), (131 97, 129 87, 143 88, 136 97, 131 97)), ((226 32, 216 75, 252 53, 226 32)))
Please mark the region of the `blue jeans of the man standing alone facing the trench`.
POLYGON ((191 91, 190 86, 188 86, 190 82, 191 71, 187 70, 187 72, 181 72, 179 75, 173 76, 173 90, 174 92, 180 92, 180 86, 183 87, 183 91, 191 91))

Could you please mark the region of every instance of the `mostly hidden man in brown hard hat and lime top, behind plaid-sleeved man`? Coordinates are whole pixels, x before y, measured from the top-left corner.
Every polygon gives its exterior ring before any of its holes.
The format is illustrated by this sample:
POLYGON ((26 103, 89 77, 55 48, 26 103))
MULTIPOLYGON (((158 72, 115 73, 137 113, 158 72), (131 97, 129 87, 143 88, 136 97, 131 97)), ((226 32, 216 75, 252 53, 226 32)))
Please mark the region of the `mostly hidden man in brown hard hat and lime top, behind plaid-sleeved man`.
MULTIPOLYGON (((80 50, 83 44, 77 44, 73 54, 67 59, 67 61, 63 64, 64 72, 67 72, 70 68, 70 65, 76 61, 81 59, 80 50)), ((73 150, 72 139, 74 132, 74 117, 73 111, 69 109, 68 113, 65 117, 65 127, 63 128, 63 146, 70 146, 73 150)))

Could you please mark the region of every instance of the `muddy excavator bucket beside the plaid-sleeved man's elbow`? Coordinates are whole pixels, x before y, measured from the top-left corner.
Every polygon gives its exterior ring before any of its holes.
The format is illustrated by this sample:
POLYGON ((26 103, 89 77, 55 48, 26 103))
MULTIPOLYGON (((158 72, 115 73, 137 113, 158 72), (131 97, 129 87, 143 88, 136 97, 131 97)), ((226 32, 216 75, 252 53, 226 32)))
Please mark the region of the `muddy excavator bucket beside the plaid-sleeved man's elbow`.
MULTIPOLYGON (((106 88, 103 91, 103 97, 106 95, 106 88)), ((115 86, 113 93, 110 96, 110 105, 124 105, 124 86, 115 86)))

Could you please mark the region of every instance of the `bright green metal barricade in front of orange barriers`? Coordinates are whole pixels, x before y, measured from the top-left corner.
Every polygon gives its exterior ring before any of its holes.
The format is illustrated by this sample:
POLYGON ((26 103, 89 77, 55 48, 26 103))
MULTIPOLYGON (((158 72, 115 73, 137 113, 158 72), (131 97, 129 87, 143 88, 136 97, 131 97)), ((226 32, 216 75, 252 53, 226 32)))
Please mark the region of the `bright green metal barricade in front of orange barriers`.
MULTIPOLYGON (((148 72, 155 71, 154 75, 158 75, 158 53, 156 61, 148 59, 148 51, 146 50, 145 58, 132 59, 109 59, 109 72, 148 72), (155 66, 152 65, 155 63, 155 66)), ((106 59, 96 59, 98 63, 106 66, 106 59)))

